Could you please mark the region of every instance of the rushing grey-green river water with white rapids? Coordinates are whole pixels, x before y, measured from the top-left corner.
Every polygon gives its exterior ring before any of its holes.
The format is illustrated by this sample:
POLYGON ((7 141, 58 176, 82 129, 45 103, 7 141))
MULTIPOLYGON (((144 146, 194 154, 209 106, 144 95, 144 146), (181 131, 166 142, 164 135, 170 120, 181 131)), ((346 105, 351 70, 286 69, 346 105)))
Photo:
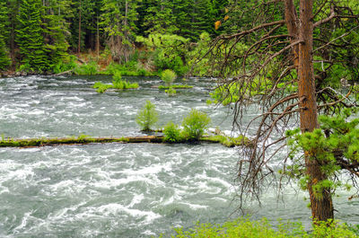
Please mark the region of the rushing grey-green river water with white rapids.
MULTIPOLYGON (((231 133, 224 107, 208 106, 210 79, 175 97, 153 87, 156 78, 127 78, 138 90, 96 93, 95 81, 109 76, 0 78, 3 137, 139 136, 136 113, 155 104, 159 126, 180 123, 190 109, 206 111, 231 133)), ((254 113, 254 112, 253 112, 254 113)), ((249 119, 253 115, 245 115, 249 119)), ((223 223, 237 211, 239 152, 223 145, 96 144, 0 148, 0 237, 151 237, 197 221, 223 223)), ((336 198, 336 216, 359 223, 358 199, 336 198)), ((285 190, 277 201, 267 190, 262 206, 247 203, 245 214, 310 223, 305 194, 285 190)), ((167 237, 165 236, 165 237, 167 237)))

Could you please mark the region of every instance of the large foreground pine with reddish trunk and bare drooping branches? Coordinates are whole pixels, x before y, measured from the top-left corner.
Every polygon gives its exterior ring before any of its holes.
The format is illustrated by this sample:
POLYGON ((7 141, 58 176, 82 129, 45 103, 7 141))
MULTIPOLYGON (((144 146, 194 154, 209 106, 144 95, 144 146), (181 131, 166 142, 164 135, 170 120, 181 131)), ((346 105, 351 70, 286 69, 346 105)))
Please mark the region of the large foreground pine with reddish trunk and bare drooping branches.
MULTIPOLYGON (((325 143, 315 141, 335 134, 335 128, 320 131, 319 113, 340 114, 344 108, 357 107, 349 98, 355 86, 346 95, 335 86, 340 85, 340 80, 357 81, 359 11, 349 7, 355 7, 351 0, 258 2, 250 1, 247 10, 234 11, 235 1, 231 11, 241 13, 236 18, 243 25, 240 31, 218 37, 210 51, 218 60, 217 70, 223 78, 217 98, 234 102, 234 123, 241 128, 243 111, 249 103, 260 106, 258 117, 244 131, 248 133, 258 123, 253 140, 256 146, 246 149, 239 163, 240 196, 244 198, 250 191, 258 198, 262 182, 269 174, 276 177, 269 162, 285 147, 286 136, 293 137, 293 133, 284 134, 297 121, 302 136, 296 136, 296 145, 302 146, 303 156, 301 160, 291 157, 296 162, 291 166, 291 158, 284 156, 280 181, 285 175, 300 177, 302 187, 309 191, 313 219, 327 221, 334 217, 332 194, 340 184, 338 172, 349 172, 354 185, 359 177, 358 160, 346 150, 350 145, 342 144, 346 147, 343 149, 337 146, 340 142, 333 142, 331 154, 323 156, 326 148, 319 147, 325 143), (273 145, 277 147, 273 149, 273 145)), ((231 19, 231 13, 229 16, 231 19)), ((229 24, 231 20, 222 22, 229 24)), ((343 134, 348 132, 343 130, 343 134)), ((355 133, 357 137, 359 132, 355 133)))

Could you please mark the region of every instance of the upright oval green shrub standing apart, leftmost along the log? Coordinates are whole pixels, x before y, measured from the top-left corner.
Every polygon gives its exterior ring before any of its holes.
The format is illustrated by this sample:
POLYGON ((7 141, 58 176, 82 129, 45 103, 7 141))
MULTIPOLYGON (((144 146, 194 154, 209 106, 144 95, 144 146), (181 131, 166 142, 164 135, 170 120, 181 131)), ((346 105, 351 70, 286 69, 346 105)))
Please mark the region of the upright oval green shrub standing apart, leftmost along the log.
POLYGON ((158 121, 158 113, 151 101, 146 101, 144 108, 140 110, 136 117, 137 124, 143 131, 151 131, 151 127, 158 121))

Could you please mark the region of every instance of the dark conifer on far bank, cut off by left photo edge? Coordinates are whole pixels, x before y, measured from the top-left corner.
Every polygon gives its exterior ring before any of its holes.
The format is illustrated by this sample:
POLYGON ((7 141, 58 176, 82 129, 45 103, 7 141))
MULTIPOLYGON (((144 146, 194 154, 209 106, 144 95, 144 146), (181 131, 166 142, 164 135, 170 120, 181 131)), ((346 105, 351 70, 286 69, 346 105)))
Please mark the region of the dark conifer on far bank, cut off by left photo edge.
POLYGON ((6 2, 0 2, 0 70, 4 70, 10 66, 10 58, 7 54, 5 37, 8 35, 8 18, 7 18, 6 2))

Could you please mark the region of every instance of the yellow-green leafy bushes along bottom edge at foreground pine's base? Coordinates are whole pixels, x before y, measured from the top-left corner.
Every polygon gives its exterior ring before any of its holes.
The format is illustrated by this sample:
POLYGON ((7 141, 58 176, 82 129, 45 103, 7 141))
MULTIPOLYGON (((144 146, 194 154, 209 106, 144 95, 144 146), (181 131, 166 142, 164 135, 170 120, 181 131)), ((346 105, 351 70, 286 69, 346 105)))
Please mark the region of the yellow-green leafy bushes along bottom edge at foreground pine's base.
POLYGON ((307 233, 300 223, 280 223, 274 228, 267 219, 250 221, 248 218, 239 218, 223 225, 197 224, 194 228, 184 231, 182 228, 175 228, 176 234, 173 238, 185 237, 211 237, 211 238, 279 238, 279 237, 305 237, 305 238, 337 238, 337 237, 357 237, 355 231, 350 227, 341 225, 337 221, 328 223, 320 222, 313 225, 311 233, 307 233))

